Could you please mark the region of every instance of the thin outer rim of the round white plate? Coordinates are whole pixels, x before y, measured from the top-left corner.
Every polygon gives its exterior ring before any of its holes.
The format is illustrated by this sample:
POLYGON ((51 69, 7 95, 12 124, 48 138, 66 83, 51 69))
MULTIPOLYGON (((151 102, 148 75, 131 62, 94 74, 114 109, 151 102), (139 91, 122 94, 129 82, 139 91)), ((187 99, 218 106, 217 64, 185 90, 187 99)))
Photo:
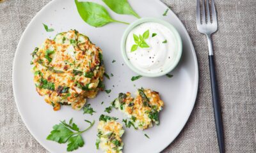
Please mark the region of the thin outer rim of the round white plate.
MULTIPOLYGON (((156 1, 157 3, 163 5, 164 7, 168 8, 170 11, 172 11, 172 10, 171 10, 166 4, 164 4, 162 1, 160 1, 160 0, 155 0, 155 1, 156 1)), ((43 145, 43 143, 39 140, 39 138, 35 136, 35 133, 33 133, 33 132, 31 131, 31 129, 30 129, 29 126, 28 126, 28 123, 25 121, 25 119, 24 119, 22 113, 20 112, 20 107, 19 107, 19 104, 17 103, 17 96, 16 96, 16 94, 15 94, 16 92, 15 92, 15 79, 14 79, 15 76, 14 76, 14 75, 15 75, 15 65, 16 65, 16 62, 17 62, 17 52, 18 52, 18 50, 20 50, 20 42, 21 42, 21 40, 24 39, 24 35, 25 35, 25 34, 27 33, 27 31, 28 31, 28 27, 30 27, 31 23, 34 22, 34 20, 36 19, 36 17, 38 17, 38 15, 40 14, 41 11, 44 11, 48 6, 50 6, 52 3, 55 3, 55 2, 56 2, 56 0, 55 0, 55 1, 50 1, 49 3, 45 4, 45 6, 44 6, 40 11, 38 11, 38 12, 36 13, 36 15, 31 19, 31 21, 29 22, 29 24, 26 25, 26 29, 24 30, 24 32, 23 32, 22 35, 20 36, 19 43, 18 43, 17 48, 16 48, 16 50, 15 50, 15 55, 14 55, 13 63, 12 63, 12 64, 13 64, 13 66, 12 66, 12 91, 13 91, 13 97, 14 97, 15 104, 16 104, 17 110, 18 110, 18 112, 19 112, 20 118, 22 119, 22 122, 24 122, 26 128, 28 129, 29 133, 33 136, 33 138, 35 138, 35 140, 36 140, 38 143, 40 143, 40 145, 42 145, 42 147, 44 147, 44 148, 45 148, 46 150, 48 150, 49 152, 52 152, 52 150, 51 150, 49 147, 43 145)), ((172 12, 173 12, 173 11, 172 11, 172 12)), ((175 17, 177 17, 177 15, 175 14, 175 12, 173 12, 173 14, 175 15, 175 17)), ((194 80, 194 81, 195 81, 195 87, 193 88, 193 91, 195 91, 195 92, 192 94, 193 97, 191 98, 191 99, 192 99, 191 102, 193 102, 193 103, 191 103, 191 108, 189 109, 190 111, 189 111, 188 115, 186 116, 187 119, 184 120, 184 122, 182 122, 182 128, 180 128, 179 133, 177 133, 176 135, 174 135, 173 139, 170 139, 170 142, 169 142, 169 143, 166 143, 167 145, 164 145, 164 147, 161 148, 161 149, 159 149, 159 150, 157 150, 157 152, 161 152, 161 151, 163 151, 164 149, 166 149, 166 147, 168 147, 169 145, 171 145, 171 144, 173 143, 173 141, 177 138, 177 136, 180 134, 180 132, 184 129, 184 127, 186 126, 186 123, 188 122, 188 119, 189 119, 189 117, 190 117, 190 115, 191 115, 191 113, 192 113, 192 111, 193 111, 193 108, 194 108, 195 102, 196 102, 196 98, 197 98, 197 94, 198 94, 199 71, 198 71, 198 59, 197 59, 197 57, 196 57, 195 47, 194 47, 193 42, 192 42, 192 40, 191 40, 191 38, 190 38, 190 36, 189 36, 189 34, 188 34, 188 31, 187 31, 186 27, 185 27, 184 24, 181 22, 180 18, 179 18, 179 17, 177 17, 177 18, 178 18, 179 24, 182 25, 181 27, 182 27, 183 31, 185 32, 186 37, 187 37, 188 40, 189 40, 189 45, 190 45, 191 50, 192 50, 193 59, 195 59, 195 63, 194 63, 194 64, 195 64, 195 80, 194 80)))

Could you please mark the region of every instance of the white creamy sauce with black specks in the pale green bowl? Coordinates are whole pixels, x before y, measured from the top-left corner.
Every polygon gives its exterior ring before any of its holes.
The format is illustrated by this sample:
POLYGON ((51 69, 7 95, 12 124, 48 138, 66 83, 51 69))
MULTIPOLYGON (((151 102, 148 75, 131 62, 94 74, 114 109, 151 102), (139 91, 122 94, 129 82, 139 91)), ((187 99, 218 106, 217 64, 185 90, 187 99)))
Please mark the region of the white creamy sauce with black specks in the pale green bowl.
POLYGON ((176 41, 172 31, 164 25, 145 22, 130 31, 125 43, 125 52, 135 68, 144 73, 159 73, 168 68, 172 64, 175 55, 177 55, 176 41), (147 30, 150 34, 145 42, 149 48, 138 47, 136 51, 131 52, 132 45, 136 44, 133 34, 143 35, 147 30), (156 33, 156 36, 152 36, 153 33, 156 33))

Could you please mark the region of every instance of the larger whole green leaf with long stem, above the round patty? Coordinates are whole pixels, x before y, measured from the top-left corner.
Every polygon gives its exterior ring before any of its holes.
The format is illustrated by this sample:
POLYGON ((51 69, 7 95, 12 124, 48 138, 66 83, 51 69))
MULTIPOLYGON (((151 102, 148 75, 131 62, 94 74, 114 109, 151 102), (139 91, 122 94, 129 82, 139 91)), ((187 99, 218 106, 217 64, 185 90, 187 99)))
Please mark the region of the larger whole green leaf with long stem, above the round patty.
POLYGON ((92 2, 78 2, 77 0, 75 0, 75 3, 81 18, 84 20, 84 22, 92 25, 93 27, 102 27, 110 22, 129 24, 127 22, 122 22, 111 18, 106 8, 100 4, 92 2))

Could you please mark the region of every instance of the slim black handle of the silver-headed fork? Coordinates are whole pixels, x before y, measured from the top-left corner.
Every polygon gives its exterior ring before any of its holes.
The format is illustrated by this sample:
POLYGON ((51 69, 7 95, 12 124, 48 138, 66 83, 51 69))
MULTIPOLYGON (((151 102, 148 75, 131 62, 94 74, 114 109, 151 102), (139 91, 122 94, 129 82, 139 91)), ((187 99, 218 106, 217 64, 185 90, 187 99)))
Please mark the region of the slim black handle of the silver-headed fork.
POLYGON ((211 75, 212 104, 213 104, 213 110, 214 110, 214 119, 215 119, 216 132, 218 137, 218 144, 219 144, 220 153, 224 153, 225 142, 224 142, 223 122, 221 117, 220 96, 218 92, 218 84, 216 79, 214 55, 209 55, 209 67, 210 67, 210 75, 211 75))

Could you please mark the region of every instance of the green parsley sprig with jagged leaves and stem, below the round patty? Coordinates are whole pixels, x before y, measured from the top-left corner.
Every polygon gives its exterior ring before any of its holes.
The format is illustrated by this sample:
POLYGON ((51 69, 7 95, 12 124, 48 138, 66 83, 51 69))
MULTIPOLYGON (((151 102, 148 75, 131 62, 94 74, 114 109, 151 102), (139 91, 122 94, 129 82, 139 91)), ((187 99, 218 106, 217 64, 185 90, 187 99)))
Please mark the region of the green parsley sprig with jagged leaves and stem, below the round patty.
POLYGON ((67 151, 73 151, 78 149, 79 147, 83 147, 84 140, 81 136, 82 133, 87 131, 88 129, 92 128, 94 124, 93 122, 90 122, 89 120, 84 120, 88 123, 90 123, 90 126, 83 131, 80 131, 77 127, 77 124, 72 122, 73 119, 70 119, 68 124, 65 120, 60 121, 60 124, 56 124, 53 126, 53 129, 51 131, 51 134, 47 136, 47 140, 51 140, 58 143, 67 143, 67 151))

